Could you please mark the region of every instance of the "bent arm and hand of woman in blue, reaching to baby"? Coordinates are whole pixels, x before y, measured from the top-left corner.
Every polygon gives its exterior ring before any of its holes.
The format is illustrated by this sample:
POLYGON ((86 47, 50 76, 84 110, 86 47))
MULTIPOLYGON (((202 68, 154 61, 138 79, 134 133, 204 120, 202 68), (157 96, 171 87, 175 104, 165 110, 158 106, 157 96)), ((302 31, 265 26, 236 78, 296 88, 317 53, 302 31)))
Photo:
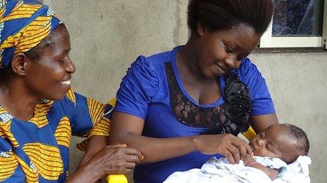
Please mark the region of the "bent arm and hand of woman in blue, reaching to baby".
POLYGON ((142 136, 144 120, 137 116, 114 112, 111 122, 109 144, 126 143, 144 154, 141 163, 154 163, 168 158, 183 156, 192 151, 203 154, 222 154, 231 163, 238 163, 251 147, 238 137, 230 134, 196 135, 189 137, 153 138, 142 136))

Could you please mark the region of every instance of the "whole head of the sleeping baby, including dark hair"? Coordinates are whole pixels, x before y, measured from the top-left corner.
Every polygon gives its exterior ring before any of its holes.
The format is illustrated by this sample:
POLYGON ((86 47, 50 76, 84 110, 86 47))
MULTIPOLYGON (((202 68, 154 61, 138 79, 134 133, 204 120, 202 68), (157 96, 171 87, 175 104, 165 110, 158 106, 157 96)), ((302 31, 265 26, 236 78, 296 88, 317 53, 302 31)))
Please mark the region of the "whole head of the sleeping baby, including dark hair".
POLYGON ((301 128, 290 124, 269 126, 250 142, 254 155, 280 158, 292 163, 299 156, 306 156, 309 140, 301 128))

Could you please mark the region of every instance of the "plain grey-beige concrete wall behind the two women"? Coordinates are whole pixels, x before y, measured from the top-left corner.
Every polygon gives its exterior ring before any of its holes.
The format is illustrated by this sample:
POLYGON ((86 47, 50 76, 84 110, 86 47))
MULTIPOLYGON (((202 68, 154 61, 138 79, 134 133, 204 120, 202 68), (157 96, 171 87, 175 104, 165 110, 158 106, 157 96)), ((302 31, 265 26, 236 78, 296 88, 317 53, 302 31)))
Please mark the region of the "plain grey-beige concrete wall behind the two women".
MULTIPOLYGON (((138 55, 187 41, 187 0, 44 0, 70 32, 75 90, 106 102, 138 55)), ((255 53, 282 123, 309 135, 312 182, 327 182, 327 52, 255 53)), ((77 142, 74 138, 73 142, 77 142)), ((71 169, 82 155, 71 148, 71 169)))

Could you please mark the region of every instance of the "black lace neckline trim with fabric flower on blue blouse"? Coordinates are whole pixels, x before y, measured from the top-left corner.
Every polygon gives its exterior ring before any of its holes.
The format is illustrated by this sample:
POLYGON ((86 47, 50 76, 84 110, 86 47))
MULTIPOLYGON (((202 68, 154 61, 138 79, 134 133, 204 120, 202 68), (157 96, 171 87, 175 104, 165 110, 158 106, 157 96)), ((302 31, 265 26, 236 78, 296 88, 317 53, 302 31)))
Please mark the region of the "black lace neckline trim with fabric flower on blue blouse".
POLYGON ((202 134, 232 133, 237 135, 249 128, 251 100, 245 83, 236 73, 226 76, 223 97, 218 107, 199 107, 183 95, 173 73, 171 62, 165 64, 173 114, 186 126, 207 128, 202 134))

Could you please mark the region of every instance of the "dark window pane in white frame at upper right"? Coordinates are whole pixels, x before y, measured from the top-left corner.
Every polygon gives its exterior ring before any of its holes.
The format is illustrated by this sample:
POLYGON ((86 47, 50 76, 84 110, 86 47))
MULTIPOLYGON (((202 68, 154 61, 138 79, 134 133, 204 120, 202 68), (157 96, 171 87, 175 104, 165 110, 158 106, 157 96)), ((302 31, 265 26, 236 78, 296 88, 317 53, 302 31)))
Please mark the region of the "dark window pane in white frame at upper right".
POLYGON ((275 0, 272 36, 321 36, 323 0, 275 0))

